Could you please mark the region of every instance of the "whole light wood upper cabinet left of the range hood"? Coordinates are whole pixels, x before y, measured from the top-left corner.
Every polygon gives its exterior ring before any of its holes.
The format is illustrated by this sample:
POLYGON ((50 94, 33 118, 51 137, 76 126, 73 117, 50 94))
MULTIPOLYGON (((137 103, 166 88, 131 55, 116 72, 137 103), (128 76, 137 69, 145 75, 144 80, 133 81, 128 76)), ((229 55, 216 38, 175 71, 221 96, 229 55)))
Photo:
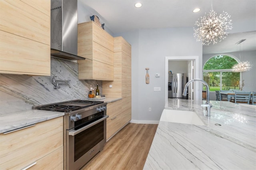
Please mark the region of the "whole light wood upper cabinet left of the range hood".
POLYGON ((0 6, 0 73, 50 75, 50 0, 0 6))

